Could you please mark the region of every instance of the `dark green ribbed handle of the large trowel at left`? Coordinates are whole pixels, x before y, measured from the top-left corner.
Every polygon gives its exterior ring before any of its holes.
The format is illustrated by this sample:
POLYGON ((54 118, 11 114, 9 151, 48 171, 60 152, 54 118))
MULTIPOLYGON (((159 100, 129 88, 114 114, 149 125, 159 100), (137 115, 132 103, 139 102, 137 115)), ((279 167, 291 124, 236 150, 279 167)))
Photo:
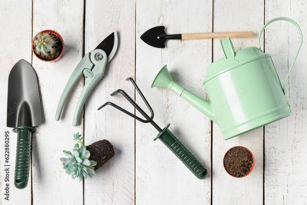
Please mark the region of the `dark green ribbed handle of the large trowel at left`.
POLYGON ((13 132, 17 133, 14 185, 18 189, 24 189, 29 179, 32 133, 36 129, 23 126, 14 128, 13 132))

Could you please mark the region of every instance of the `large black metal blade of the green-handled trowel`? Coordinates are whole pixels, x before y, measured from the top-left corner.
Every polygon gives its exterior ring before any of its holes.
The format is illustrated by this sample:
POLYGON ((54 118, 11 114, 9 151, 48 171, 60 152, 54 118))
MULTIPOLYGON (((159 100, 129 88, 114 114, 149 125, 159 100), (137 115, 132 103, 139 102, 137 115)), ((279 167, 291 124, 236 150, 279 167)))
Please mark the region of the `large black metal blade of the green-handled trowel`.
POLYGON ((25 60, 19 60, 10 71, 7 95, 7 127, 41 124, 41 104, 37 75, 25 60))

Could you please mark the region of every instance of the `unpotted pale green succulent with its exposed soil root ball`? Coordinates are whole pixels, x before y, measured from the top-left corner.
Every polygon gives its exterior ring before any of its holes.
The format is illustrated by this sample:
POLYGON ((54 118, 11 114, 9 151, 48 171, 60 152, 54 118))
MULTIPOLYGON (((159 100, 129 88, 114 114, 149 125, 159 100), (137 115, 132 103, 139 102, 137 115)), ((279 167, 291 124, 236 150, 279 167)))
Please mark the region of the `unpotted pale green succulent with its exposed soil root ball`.
POLYGON ((115 155, 113 145, 107 140, 99 140, 91 145, 85 146, 81 134, 74 134, 77 141, 72 152, 63 150, 66 157, 61 157, 65 172, 72 175, 72 179, 78 178, 82 181, 87 176, 92 177, 96 170, 107 163, 115 155))

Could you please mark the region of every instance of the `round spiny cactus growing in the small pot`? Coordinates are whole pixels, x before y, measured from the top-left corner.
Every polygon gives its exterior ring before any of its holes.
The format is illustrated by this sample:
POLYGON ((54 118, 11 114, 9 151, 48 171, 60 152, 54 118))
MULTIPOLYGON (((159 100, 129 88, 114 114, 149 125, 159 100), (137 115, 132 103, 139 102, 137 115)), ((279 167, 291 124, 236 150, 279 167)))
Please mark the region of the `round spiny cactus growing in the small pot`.
POLYGON ((44 57, 52 57, 56 54, 56 37, 47 32, 38 33, 33 39, 34 52, 44 57))

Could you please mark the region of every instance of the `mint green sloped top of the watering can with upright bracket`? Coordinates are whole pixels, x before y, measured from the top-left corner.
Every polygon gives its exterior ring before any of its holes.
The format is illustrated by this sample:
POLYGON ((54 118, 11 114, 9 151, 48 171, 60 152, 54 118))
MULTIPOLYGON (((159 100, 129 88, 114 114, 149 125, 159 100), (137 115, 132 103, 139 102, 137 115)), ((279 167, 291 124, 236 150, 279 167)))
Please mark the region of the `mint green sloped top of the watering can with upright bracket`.
POLYGON ((220 40, 220 43, 225 57, 214 61, 208 66, 207 76, 206 79, 204 79, 203 84, 206 83, 208 80, 240 65, 249 63, 253 60, 257 60, 260 58, 271 57, 271 55, 263 53, 259 48, 255 46, 244 48, 235 52, 235 49, 229 37, 220 40))

